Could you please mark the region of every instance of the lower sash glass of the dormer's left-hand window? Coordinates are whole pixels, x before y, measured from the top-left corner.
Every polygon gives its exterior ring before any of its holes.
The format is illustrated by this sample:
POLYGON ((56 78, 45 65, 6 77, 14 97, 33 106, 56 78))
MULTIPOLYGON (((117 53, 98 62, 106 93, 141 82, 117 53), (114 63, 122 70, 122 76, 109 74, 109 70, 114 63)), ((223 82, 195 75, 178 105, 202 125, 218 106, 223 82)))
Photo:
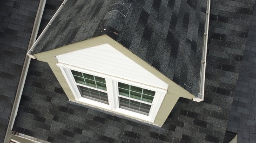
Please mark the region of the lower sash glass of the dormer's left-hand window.
POLYGON ((87 87, 82 87, 82 86, 77 86, 78 89, 80 90, 81 96, 83 98, 87 98, 87 99, 92 99, 101 103, 105 103, 108 104, 108 94, 98 91, 98 90, 94 90, 94 89, 90 89, 87 87))

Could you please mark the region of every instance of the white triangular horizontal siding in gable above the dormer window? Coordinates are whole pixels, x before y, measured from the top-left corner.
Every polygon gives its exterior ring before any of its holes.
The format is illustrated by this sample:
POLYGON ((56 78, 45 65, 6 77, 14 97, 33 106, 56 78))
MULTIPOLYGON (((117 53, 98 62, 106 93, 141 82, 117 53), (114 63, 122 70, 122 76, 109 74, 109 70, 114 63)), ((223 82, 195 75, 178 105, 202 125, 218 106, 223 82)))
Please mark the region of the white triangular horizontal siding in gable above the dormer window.
POLYGON ((168 85, 108 44, 56 56, 58 62, 167 89, 168 85))

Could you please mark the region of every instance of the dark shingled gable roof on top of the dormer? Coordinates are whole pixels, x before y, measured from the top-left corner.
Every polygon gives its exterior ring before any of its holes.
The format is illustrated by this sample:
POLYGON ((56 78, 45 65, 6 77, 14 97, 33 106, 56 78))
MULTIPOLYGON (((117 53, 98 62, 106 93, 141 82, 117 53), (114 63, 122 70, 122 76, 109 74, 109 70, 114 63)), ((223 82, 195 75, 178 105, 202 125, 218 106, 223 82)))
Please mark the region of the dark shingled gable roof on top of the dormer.
POLYGON ((206 0, 67 0, 32 54, 108 34, 197 95, 206 0))

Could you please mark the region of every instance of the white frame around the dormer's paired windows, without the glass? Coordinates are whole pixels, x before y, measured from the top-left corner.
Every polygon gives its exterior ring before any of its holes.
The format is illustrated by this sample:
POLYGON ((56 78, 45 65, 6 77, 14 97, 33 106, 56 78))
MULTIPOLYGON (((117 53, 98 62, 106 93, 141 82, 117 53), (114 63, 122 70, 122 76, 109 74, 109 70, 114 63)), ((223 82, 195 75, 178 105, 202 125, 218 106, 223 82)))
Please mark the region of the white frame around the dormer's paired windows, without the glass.
MULTIPOLYGON (((114 113, 124 115, 126 117, 138 118, 141 121, 148 121, 148 122, 154 123, 155 117, 156 117, 156 115, 159 111, 159 108, 162 104, 164 96, 167 93, 166 90, 158 88, 158 87, 145 85, 145 84, 135 82, 135 81, 129 81, 127 79, 122 79, 122 78, 119 78, 119 77, 102 74, 102 73, 95 72, 95 71, 92 71, 92 70, 88 70, 88 69, 85 69, 85 68, 79 68, 79 67, 67 65, 65 63, 58 62, 57 66, 60 67, 61 72, 64 75, 64 77, 67 81, 67 84, 70 87, 72 93, 74 94, 74 97, 75 97, 76 101, 81 102, 81 103, 85 103, 85 104, 88 104, 88 105, 96 106, 96 107, 99 107, 101 109, 103 108, 103 109, 106 109, 108 111, 112 111, 114 113), (108 105, 105 104, 105 103, 101 103, 101 102, 92 100, 92 99, 87 99, 87 98, 81 97, 81 93, 79 92, 79 89, 76 86, 77 84, 74 80, 74 77, 73 77, 73 74, 72 74, 71 70, 75 70, 75 71, 79 71, 79 72, 82 72, 82 73, 85 73, 85 74, 105 78, 106 86, 107 86, 107 93, 108 93, 108 105), (154 96, 153 102, 151 103, 151 108, 150 108, 150 111, 149 111, 148 115, 144 115, 144 114, 141 114, 141 113, 132 112, 132 111, 129 111, 129 110, 119 108, 118 82, 125 83, 125 84, 128 84, 128 85, 132 85, 132 86, 135 86, 135 87, 141 87, 141 88, 148 89, 148 90, 151 90, 151 91, 155 91, 155 96, 154 96)), ((97 88, 93 88, 93 87, 89 87, 89 88, 101 91, 101 89, 97 89, 97 88)), ((133 99, 133 100, 141 102, 141 103, 146 102, 146 101, 141 101, 141 100, 136 100, 136 99, 133 99)))

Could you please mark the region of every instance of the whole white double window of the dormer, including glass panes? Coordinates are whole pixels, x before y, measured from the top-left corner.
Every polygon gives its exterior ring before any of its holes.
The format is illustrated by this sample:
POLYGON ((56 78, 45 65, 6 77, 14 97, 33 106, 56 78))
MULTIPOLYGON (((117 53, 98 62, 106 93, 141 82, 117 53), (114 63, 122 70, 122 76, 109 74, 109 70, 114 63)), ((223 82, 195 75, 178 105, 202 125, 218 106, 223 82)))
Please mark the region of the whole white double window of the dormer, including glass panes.
POLYGON ((154 122, 167 92, 161 88, 88 69, 63 63, 57 63, 57 65, 61 68, 71 91, 74 93, 76 102, 142 121, 154 122), (80 76, 79 73, 81 73, 80 76))

